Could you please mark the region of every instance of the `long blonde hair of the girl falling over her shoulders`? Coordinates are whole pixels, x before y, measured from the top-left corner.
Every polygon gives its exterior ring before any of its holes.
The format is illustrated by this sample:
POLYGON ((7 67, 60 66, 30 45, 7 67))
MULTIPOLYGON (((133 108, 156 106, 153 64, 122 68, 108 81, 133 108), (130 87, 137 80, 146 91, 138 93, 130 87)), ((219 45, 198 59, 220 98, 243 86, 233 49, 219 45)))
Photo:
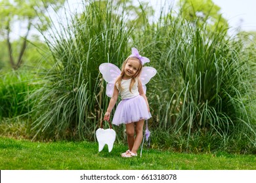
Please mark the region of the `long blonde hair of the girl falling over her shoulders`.
POLYGON ((123 61, 123 65, 122 65, 122 67, 121 67, 121 74, 117 77, 117 80, 116 80, 115 85, 117 84, 118 90, 123 90, 123 88, 121 88, 121 80, 123 79, 123 76, 125 76, 125 65, 126 65, 127 61, 129 61, 129 59, 138 60, 139 63, 140 63, 137 72, 136 72, 135 75, 131 78, 131 83, 130 83, 130 86, 129 86, 129 90, 130 90, 130 92, 131 92, 131 88, 133 88, 133 85, 135 84, 136 79, 139 78, 140 73, 141 73, 141 71, 142 71, 142 64, 141 64, 139 58, 137 58, 137 57, 129 56, 127 59, 125 59, 125 61, 123 61))

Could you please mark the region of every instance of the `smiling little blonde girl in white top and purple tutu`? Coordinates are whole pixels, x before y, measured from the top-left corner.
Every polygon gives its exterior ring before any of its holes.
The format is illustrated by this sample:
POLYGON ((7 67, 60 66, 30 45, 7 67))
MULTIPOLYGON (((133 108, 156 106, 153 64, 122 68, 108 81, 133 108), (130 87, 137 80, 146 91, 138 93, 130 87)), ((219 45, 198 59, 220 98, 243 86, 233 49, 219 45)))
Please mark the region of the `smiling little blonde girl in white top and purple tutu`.
POLYGON ((121 74, 116 79, 114 92, 104 116, 104 120, 110 119, 110 113, 120 93, 122 101, 117 105, 112 123, 126 126, 129 150, 121 154, 125 158, 137 156, 143 137, 144 120, 151 118, 148 99, 139 77, 143 64, 140 58, 131 55, 123 62, 121 74))

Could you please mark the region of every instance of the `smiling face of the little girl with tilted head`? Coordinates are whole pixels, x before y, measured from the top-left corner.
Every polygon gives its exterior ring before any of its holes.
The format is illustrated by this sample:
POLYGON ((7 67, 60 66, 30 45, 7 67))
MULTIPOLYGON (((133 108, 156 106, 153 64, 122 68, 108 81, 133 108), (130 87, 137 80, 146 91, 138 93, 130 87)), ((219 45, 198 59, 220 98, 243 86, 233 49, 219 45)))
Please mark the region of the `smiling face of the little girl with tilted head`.
POLYGON ((127 63, 125 64, 125 75, 124 79, 130 79, 132 78, 140 67, 140 61, 139 59, 129 58, 127 63))

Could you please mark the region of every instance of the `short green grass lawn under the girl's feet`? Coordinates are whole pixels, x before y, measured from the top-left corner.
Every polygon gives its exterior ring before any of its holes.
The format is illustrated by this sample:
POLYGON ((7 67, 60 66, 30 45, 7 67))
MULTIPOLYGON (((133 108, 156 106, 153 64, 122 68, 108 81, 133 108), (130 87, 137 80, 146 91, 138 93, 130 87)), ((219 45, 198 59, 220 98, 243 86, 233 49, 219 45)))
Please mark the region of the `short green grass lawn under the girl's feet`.
POLYGON ((114 144, 98 152, 95 142, 31 142, 0 137, 1 170, 255 170, 256 156, 238 154, 181 154, 146 150, 142 158, 121 158, 126 146, 114 144))

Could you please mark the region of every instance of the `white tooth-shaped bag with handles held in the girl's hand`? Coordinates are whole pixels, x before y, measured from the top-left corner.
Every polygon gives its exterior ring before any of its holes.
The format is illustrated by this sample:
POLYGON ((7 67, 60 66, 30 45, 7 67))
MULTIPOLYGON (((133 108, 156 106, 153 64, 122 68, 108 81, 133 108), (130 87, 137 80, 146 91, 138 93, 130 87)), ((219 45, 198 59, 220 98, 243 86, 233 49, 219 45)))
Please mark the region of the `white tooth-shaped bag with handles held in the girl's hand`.
POLYGON ((108 145, 108 152, 112 151, 114 142, 116 140, 116 131, 112 129, 111 122, 108 121, 110 124, 110 128, 103 129, 102 121, 100 122, 100 128, 96 130, 96 139, 98 141, 98 152, 102 151, 105 144, 108 145))

